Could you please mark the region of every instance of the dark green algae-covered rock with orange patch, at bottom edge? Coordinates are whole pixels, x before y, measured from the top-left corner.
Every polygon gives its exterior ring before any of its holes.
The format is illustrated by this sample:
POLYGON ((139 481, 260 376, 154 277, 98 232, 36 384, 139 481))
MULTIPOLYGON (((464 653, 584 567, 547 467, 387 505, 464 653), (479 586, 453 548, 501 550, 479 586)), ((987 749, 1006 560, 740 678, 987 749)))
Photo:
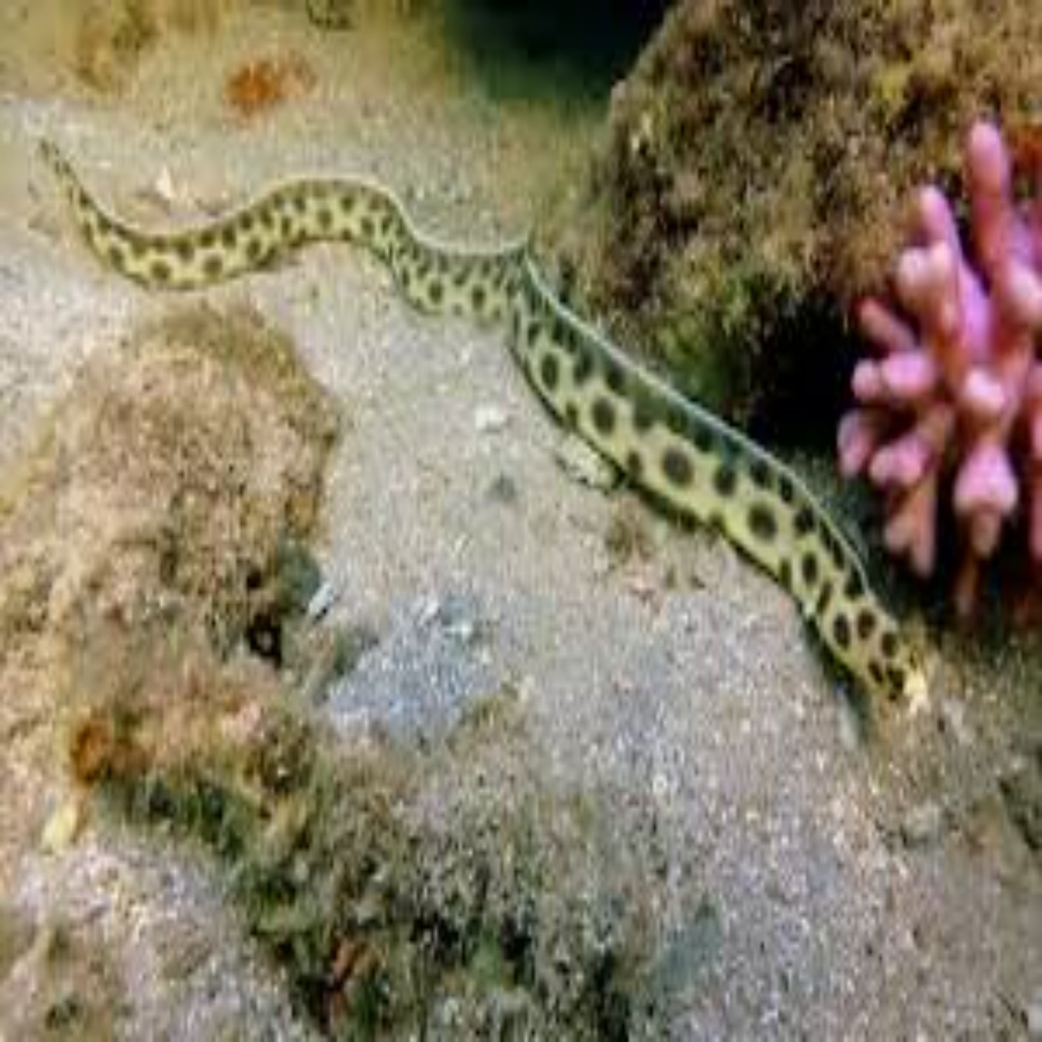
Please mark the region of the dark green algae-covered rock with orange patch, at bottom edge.
POLYGON ((541 776, 510 692, 416 750, 323 735, 247 664, 151 653, 168 683, 114 689, 74 735, 74 752, 95 748, 86 780, 222 857, 323 1032, 626 1037, 653 920, 646 851, 618 842, 605 794, 541 776))

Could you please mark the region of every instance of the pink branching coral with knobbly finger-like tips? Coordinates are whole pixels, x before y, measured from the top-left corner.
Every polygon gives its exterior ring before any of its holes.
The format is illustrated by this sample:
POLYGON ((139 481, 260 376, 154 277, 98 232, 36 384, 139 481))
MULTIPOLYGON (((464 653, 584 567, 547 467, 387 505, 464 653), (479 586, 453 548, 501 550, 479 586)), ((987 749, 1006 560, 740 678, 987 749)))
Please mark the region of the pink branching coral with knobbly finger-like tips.
POLYGON ((861 306, 882 357, 858 365, 859 407, 839 429, 843 473, 866 472, 885 490, 886 545, 920 575, 934 570, 950 490, 964 617, 1011 523, 1027 532, 1036 590, 1042 577, 1042 168, 1019 204, 1001 135, 977 123, 966 175, 976 267, 944 194, 923 189, 915 242, 897 263, 903 311, 873 299, 861 306))

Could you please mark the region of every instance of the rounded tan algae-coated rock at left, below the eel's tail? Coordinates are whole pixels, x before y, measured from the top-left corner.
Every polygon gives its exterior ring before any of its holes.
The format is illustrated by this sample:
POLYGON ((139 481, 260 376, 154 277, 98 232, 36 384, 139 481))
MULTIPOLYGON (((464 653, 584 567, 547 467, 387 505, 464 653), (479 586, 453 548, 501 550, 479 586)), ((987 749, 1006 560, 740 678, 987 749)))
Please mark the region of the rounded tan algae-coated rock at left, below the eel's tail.
POLYGON ((304 596, 289 565, 337 429, 293 345, 252 312, 142 329, 85 369, 0 488, 0 661, 22 632, 76 644, 99 620, 191 618, 233 647, 304 596))

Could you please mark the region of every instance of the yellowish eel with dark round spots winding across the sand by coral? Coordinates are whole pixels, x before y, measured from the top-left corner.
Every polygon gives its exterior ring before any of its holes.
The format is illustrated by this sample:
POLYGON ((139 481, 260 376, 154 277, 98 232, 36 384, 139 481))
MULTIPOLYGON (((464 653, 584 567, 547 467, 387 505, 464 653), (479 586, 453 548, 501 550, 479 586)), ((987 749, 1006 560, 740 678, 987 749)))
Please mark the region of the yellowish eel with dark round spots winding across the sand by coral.
POLYGON ((720 529, 769 572, 870 693, 889 700, 924 694, 912 643, 807 486, 575 315, 547 286, 525 242, 486 250, 438 242, 414 226, 388 189, 354 177, 288 181, 210 223, 146 231, 106 212, 51 142, 41 153, 88 246, 146 287, 199 289, 307 243, 345 240, 386 264, 417 308, 505 326, 513 355, 566 427, 636 486, 720 529))

